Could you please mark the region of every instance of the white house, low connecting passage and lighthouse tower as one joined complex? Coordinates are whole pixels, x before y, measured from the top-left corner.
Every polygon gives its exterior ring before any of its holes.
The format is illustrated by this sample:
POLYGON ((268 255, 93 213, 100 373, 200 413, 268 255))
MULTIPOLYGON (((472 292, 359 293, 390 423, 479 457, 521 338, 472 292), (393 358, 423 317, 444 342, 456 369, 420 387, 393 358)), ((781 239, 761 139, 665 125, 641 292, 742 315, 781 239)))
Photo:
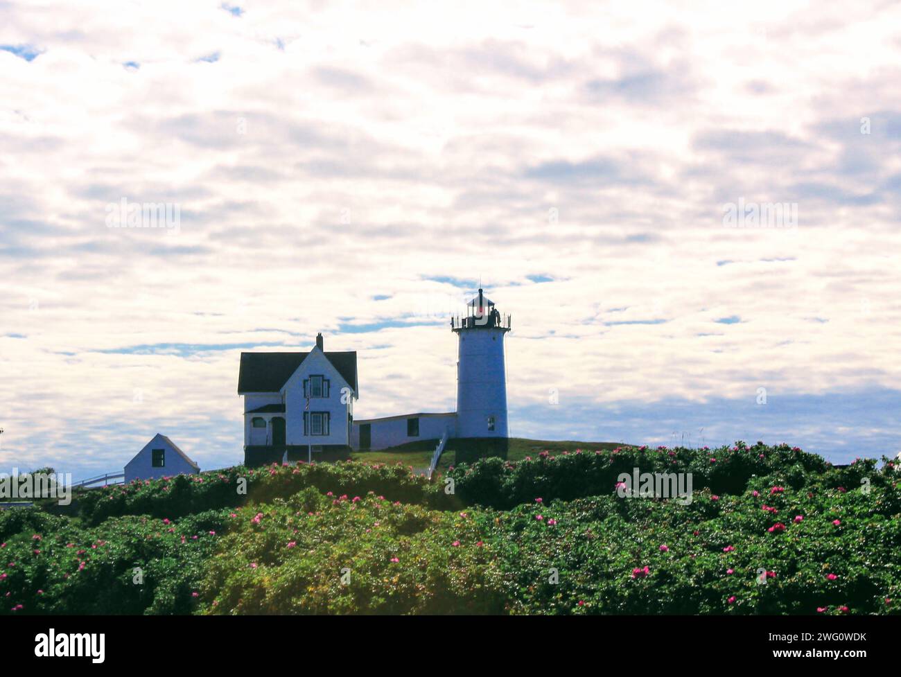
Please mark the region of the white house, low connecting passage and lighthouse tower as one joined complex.
POLYGON ((238 394, 244 397, 244 462, 336 460, 351 449, 436 445, 505 456, 508 441, 502 317, 481 289, 465 316, 451 319, 458 337, 457 411, 354 420, 359 396, 357 353, 323 351, 323 336, 306 353, 241 353, 238 394), (448 444, 451 442, 451 444, 448 444))

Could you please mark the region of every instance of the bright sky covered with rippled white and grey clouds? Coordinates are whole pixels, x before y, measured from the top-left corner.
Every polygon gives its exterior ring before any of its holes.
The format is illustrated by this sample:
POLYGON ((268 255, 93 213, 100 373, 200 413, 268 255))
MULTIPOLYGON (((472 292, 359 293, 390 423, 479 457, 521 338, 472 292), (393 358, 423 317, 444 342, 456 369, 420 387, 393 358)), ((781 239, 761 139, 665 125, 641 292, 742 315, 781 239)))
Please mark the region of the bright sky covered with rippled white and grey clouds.
POLYGON ((156 432, 240 463, 241 351, 320 331, 359 353, 356 418, 453 411, 479 282, 515 437, 894 455, 899 29, 0 0, 0 471, 121 472, 156 432))

